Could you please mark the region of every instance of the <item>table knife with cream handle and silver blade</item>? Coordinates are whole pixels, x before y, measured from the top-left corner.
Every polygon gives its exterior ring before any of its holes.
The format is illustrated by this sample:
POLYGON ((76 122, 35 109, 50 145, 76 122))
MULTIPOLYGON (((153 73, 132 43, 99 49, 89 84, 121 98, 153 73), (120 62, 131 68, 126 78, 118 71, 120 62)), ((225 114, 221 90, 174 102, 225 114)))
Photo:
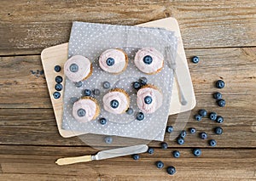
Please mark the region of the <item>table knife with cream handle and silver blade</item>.
POLYGON ((73 163, 86 162, 86 161, 98 161, 118 156, 128 156, 133 154, 144 153, 148 150, 147 144, 138 144, 135 146, 123 147, 113 150, 102 150, 99 151, 95 156, 77 156, 77 157, 67 157, 60 158, 55 163, 57 165, 69 165, 73 163))

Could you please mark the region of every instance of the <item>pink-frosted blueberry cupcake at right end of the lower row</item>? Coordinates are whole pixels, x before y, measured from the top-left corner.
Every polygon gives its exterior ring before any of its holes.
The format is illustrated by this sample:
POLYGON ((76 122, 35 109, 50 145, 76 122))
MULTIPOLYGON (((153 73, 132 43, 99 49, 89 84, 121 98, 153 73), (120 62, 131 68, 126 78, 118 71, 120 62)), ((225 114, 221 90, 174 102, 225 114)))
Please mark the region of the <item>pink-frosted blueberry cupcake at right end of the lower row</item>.
POLYGON ((143 113, 154 113, 163 103, 163 94, 153 85, 145 85, 137 92, 137 106, 143 113))

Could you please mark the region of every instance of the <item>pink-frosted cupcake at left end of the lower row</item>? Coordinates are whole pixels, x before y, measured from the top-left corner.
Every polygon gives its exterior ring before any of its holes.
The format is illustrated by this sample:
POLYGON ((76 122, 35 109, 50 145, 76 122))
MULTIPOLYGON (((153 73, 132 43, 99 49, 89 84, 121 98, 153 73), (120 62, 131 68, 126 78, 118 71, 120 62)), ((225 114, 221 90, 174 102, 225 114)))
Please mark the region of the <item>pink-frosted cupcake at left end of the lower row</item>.
POLYGON ((100 114, 100 106, 96 99, 83 97, 73 104, 73 117, 79 122, 90 122, 100 114))

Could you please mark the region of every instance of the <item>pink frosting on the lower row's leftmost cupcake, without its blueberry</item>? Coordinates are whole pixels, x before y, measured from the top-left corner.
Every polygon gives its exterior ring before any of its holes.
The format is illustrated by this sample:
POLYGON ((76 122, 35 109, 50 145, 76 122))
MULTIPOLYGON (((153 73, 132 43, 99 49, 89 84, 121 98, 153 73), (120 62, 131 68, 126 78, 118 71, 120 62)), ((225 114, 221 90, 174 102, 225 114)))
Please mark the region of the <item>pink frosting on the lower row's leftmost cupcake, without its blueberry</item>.
POLYGON ((79 99, 73 104, 73 117, 79 122, 90 122, 96 116, 96 104, 92 99, 79 99), (85 110, 85 116, 79 116, 79 109, 85 110))

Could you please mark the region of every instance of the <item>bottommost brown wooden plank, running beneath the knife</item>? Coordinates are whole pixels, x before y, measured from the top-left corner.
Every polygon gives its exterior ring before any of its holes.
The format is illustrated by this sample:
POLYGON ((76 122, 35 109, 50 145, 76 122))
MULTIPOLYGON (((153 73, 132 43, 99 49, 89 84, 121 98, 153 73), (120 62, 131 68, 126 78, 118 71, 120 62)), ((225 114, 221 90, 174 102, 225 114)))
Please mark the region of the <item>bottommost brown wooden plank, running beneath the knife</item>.
POLYGON ((174 149, 155 149, 153 155, 141 154, 133 161, 123 156, 103 161, 91 161, 60 167, 55 160, 60 156, 95 154, 88 147, 0 146, 0 179, 12 180, 253 180, 256 151, 204 149, 195 158, 190 149, 179 149, 180 158, 173 158, 174 149), (157 169, 155 161, 165 167, 157 169), (174 166, 177 173, 170 176, 166 167, 174 166), (88 178, 88 179, 87 179, 88 178))

